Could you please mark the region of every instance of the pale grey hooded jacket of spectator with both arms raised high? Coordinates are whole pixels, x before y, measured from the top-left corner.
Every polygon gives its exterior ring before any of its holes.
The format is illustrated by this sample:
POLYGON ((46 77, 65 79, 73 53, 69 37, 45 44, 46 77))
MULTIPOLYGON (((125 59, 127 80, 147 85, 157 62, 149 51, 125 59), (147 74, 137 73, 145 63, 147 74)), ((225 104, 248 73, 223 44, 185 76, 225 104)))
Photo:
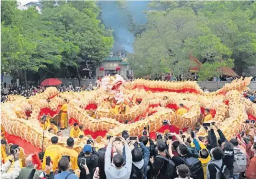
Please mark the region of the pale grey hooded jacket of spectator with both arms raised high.
POLYGON ((129 146, 125 145, 125 166, 121 168, 116 168, 115 165, 111 165, 111 148, 112 145, 108 145, 106 148, 105 153, 105 173, 106 178, 108 179, 128 179, 131 175, 131 164, 132 164, 132 157, 131 157, 131 150, 129 146))

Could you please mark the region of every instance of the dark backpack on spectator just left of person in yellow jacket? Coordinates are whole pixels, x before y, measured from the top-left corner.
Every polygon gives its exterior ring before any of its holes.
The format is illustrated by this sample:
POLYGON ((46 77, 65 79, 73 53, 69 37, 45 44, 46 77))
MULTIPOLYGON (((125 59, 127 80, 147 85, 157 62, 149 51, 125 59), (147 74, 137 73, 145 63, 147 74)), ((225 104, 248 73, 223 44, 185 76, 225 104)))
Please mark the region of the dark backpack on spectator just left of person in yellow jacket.
POLYGON ((190 177, 197 179, 204 178, 202 163, 200 162, 200 160, 198 160, 198 158, 189 157, 182 158, 182 160, 184 161, 185 165, 187 165, 190 169, 190 177))

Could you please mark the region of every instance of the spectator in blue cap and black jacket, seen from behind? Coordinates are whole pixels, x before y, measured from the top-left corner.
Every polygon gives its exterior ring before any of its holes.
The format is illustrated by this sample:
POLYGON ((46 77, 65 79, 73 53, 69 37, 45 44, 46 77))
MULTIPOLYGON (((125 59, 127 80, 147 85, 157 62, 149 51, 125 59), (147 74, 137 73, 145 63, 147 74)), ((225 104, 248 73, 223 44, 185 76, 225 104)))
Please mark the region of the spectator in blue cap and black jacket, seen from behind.
POLYGON ((98 167, 98 155, 92 155, 92 147, 87 144, 84 145, 83 151, 81 151, 78 155, 78 167, 81 170, 79 178, 93 178, 93 172, 96 167, 98 167), (89 174, 87 175, 86 170, 83 167, 83 160, 85 159, 86 165, 89 169, 89 174))

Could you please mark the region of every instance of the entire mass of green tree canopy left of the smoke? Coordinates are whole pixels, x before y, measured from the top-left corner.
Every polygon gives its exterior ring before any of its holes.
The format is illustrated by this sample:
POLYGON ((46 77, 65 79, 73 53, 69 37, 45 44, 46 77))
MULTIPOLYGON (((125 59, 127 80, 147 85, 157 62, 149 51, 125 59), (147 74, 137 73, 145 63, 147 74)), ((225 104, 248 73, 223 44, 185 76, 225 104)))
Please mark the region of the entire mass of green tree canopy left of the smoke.
POLYGON ((113 45, 111 32, 97 19, 93 1, 72 1, 53 6, 43 1, 43 12, 34 7, 16 8, 16 1, 1 3, 2 70, 23 72, 74 67, 80 62, 101 62, 113 45))

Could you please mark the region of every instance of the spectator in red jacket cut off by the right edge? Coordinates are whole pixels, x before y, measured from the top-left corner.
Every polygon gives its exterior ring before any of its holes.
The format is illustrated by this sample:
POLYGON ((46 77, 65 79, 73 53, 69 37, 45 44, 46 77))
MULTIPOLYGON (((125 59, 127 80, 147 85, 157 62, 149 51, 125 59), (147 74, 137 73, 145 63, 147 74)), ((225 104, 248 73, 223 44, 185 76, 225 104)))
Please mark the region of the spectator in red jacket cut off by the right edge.
MULTIPOLYGON (((256 138, 256 136, 254 138, 256 138)), ((256 142, 252 145, 251 150, 254 152, 254 156, 250 159, 250 162, 248 163, 245 176, 248 179, 255 179, 256 178, 256 142)))

